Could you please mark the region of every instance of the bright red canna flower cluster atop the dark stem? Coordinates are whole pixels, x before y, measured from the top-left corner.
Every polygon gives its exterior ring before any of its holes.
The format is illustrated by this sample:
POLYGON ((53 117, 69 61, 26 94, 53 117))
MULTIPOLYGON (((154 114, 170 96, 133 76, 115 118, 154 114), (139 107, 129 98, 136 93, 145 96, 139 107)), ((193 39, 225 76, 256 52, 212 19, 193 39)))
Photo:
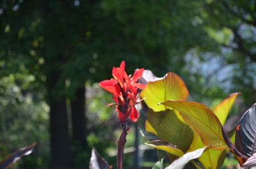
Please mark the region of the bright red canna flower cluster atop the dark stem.
POLYGON ((113 67, 112 75, 114 79, 100 82, 100 86, 113 94, 115 108, 118 111, 118 117, 121 121, 129 116, 134 122, 139 118, 139 113, 134 107, 137 104, 137 88, 146 88, 144 84, 136 83, 142 77, 144 69, 138 69, 133 74, 127 76, 125 72, 125 61, 122 61, 120 67, 113 67))

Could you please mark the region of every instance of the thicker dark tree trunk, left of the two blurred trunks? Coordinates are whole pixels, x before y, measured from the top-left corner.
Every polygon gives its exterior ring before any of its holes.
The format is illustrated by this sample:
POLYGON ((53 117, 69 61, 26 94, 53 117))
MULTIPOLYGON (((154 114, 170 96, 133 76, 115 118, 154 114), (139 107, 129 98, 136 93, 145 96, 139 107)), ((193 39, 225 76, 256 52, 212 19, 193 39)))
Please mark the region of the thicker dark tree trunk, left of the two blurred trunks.
POLYGON ((65 82, 59 80, 59 73, 51 73, 47 79, 50 107, 51 163, 50 168, 71 168, 71 143, 68 134, 68 115, 65 95, 61 91, 65 82), (57 87, 58 86, 58 87, 57 87))

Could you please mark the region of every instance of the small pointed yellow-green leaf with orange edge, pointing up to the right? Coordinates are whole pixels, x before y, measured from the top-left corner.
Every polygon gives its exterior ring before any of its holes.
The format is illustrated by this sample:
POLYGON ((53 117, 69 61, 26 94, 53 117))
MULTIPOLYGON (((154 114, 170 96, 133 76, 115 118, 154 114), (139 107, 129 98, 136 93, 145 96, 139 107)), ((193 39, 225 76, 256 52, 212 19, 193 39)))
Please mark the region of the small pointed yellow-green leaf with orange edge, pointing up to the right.
POLYGON ((218 120, 220 120, 221 125, 224 125, 226 117, 228 117, 230 108, 234 104, 234 101, 239 94, 240 92, 229 95, 228 98, 224 99, 220 104, 212 109, 213 113, 218 117, 218 120))

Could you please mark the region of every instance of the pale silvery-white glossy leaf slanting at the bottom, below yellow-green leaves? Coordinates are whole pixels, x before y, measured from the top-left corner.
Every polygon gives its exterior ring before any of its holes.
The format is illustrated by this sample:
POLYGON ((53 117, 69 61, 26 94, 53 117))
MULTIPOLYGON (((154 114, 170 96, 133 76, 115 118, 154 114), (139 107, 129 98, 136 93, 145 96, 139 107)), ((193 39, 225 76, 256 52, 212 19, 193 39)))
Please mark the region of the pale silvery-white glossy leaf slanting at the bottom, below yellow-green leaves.
POLYGON ((191 151, 189 153, 184 154, 181 158, 176 159, 174 162, 170 164, 170 166, 166 167, 165 169, 178 169, 183 168, 185 164, 187 164, 190 160, 199 158, 200 155, 204 152, 204 148, 198 149, 195 151, 191 151))

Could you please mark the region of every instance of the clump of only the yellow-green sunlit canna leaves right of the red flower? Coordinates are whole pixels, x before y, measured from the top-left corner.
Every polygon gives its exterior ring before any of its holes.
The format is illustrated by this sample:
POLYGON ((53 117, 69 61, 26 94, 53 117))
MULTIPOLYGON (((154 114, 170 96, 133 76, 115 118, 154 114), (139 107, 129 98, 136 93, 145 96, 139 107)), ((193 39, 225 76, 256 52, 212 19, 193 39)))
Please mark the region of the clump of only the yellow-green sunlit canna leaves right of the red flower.
MULTIPOLYGON (((145 74, 142 78, 149 77, 145 74)), ((179 98, 180 95, 187 91, 187 87, 184 86, 184 83, 177 82, 176 79, 177 78, 171 78, 171 76, 166 76, 158 81, 149 82, 147 83, 147 88, 140 93, 142 98, 148 100, 146 102, 147 107, 152 107, 155 110, 149 109, 147 111, 145 125, 147 132, 151 132, 160 139, 165 140, 151 141, 146 144, 170 153, 168 154, 168 158, 172 163, 171 165, 178 163, 178 165, 183 166, 181 162, 174 160, 175 156, 180 157, 184 153, 188 155, 192 153, 193 150, 199 150, 206 145, 211 148, 207 149, 205 152, 202 151, 198 156, 199 161, 205 168, 220 168, 225 159, 226 149, 229 149, 235 155, 242 166, 247 157, 243 154, 243 151, 238 151, 236 147, 234 147, 234 142, 230 141, 228 134, 226 134, 222 127, 239 93, 230 95, 212 110, 201 103, 179 99, 175 100, 175 98, 161 103, 161 101, 166 98, 167 93, 175 94, 174 96, 179 98), (164 83, 165 85, 159 88, 159 84, 163 82, 168 83, 164 83), (175 85, 179 87, 173 87, 175 85), (168 92, 164 92, 167 91, 167 88, 169 88, 168 92), (154 90, 148 92, 150 89, 154 90), (162 99, 157 100, 155 98, 162 99), (165 105, 166 111, 155 108, 154 104, 165 105), (188 126, 187 128, 185 127, 186 125, 188 126), (189 139, 191 139, 191 141, 189 141, 189 139), (184 149, 184 146, 187 146, 187 149, 184 149)), ((180 81, 182 80, 180 79, 180 81)), ((251 111, 254 111, 254 108, 252 108, 251 111)), ((247 113, 247 115, 251 115, 251 113, 247 113)), ((242 122, 242 124, 248 124, 248 122, 242 122)), ((239 132, 239 130, 237 132, 239 132)), ((234 132, 230 133, 229 136, 233 140, 234 132)), ((247 138, 243 136, 243 143, 246 142, 246 139, 247 138)), ((236 138, 236 142, 237 141, 238 138, 236 138)), ((198 166, 196 162, 194 164, 196 167, 202 168, 200 165, 198 166)))

